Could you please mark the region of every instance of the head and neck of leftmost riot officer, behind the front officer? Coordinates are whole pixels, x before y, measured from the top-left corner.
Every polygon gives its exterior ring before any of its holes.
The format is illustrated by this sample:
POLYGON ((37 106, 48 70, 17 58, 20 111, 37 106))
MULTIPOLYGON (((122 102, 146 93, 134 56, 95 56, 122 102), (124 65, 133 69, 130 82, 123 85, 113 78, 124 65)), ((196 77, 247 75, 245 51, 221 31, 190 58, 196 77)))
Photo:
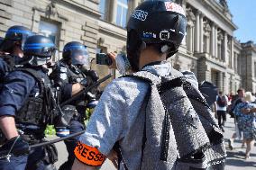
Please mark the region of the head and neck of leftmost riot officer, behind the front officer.
POLYGON ((10 69, 14 65, 23 64, 23 45, 32 35, 32 31, 20 25, 12 26, 6 31, 5 39, 0 43, 0 51, 1 58, 4 58, 10 69))

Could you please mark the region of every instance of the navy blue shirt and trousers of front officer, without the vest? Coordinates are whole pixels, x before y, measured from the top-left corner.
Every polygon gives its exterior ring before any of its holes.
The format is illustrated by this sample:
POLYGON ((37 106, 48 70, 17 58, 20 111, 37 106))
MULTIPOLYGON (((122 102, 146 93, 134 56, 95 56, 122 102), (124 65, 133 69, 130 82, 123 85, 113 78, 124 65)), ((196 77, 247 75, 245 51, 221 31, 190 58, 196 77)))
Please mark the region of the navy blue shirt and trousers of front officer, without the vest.
MULTIPOLYGON (((46 69, 42 67, 33 67, 32 69, 36 70, 41 77, 45 79, 48 78, 46 75, 46 69)), ((22 109, 24 103, 28 100, 29 97, 37 96, 40 93, 40 83, 38 80, 22 71, 17 70, 10 72, 5 76, 5 84, 3 89, 0 92, 0 96, 5 96, 0 98, 0 116, 16 116, 16 113, 22 109)), ((63 88, 62 96, 64 99, 71 97, 72 86, 66 85, 63 88)), ((15 119, 16 120, 16 119, 15 119)), ((43 138, 43 130, 37 125, 17 122, 16 124, 18 129, 23 130, 26 134, 27 132, 37 133, 40 131, 41 137, 43 138)), ((45 163, 43 158, 45 157, 45 152, 43 148, 33 149, 28 156, 14 157, 10 158, 10 162, 7 159, 0 159, 0 169, 1 170, 14 170, 14 169, 37 169, 43 170, 45 168, 45 163)))

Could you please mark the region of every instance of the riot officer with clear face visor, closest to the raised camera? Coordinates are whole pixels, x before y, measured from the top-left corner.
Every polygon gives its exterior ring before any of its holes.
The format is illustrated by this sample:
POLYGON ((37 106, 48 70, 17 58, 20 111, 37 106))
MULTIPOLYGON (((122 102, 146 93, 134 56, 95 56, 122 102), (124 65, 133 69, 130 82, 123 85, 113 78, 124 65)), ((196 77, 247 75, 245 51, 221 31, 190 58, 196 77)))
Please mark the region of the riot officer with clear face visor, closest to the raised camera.
MULTIPOLYGON (((50 79, 53 79, 54 85, 58 88, 65 84, 86 84, 92 85, 96 83, 98 76, 93 70, 87 70, 85 67, 89 67, 89 56, 87 52, 87 47, 77 41, 71 41, 64 46, 62 59, 53 67, 52 73, 50 74, 50 79)), ((69 121, 69 127, 58 127, 57 136, 63 137, 65 135, 62 131, 67 131, 68 128, 70 133, 76 133, 78 131, 84 130, 85 113, 87 108, 87 103, 95 101, 95 94, 89 92, 83 99, 78 99, 73 101, 72 105, 76 106, 77 114, 69 121), (86 101, 86 102, 85 102, 86 101)), ((70 106, 69 106, 70 107, 70 106)), ((63 109, 63 108, 62 108, 63 109)), ((65 112, 65 109, 64 111, 65 112)), ((76 112, 76 111, 75 111, 76 112)), ((74 148, 78 142, 78 137, 72 139, 64 140, 67 150, 69 152, 68 161, 59 167, 59 170, 69 170, 73 165, 75 156, 74 148)))

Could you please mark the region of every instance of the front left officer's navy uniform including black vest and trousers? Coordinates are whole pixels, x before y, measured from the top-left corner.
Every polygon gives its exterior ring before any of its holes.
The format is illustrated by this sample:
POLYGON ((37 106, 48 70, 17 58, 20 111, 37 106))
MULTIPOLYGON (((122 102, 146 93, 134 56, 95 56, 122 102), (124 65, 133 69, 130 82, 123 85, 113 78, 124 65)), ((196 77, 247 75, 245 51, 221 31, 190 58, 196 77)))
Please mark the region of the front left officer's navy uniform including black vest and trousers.
MULTIPOLYGON (((45 111, 43 109, 43 96, 41 96, 41 83, 37 78, 26 71, 27 68, 34 70, 44 85, 49 85, 47 70, 42 67, 26 67, 23 70, 14 71, 5 76, 5 84, 1 91, 0 116, 14 116, 16 127, 23 131, 24 139, 30 144, 39 143, 44 138, 44 130, 47 122, 43 122, 45 111)), ((71 86, 65 90, 65 98, 71 97, 71 86)), ((9 163, 6 159, 0 160, 0 169, 5 166, 14 166, 16 169, 43 169, 45 163, 44 148, 35 148, 31 154, 22 157, 11 157, 9 163), (16 159, 16 160, 15 160, 16 159), (27 162, 26 162, 27 159, 27 162), (13 160, 13 161, 12 161, 13 160), (18 164, 18 162, 20 164, 18 164)))

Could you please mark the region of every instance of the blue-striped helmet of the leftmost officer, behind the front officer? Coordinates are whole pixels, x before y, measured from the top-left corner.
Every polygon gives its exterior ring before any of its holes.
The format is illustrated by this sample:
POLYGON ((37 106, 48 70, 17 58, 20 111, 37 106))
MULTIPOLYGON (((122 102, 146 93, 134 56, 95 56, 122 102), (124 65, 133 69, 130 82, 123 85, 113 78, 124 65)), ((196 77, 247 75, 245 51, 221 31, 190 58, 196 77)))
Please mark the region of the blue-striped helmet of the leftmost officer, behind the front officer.
POLYGON ((16 41, 20 42, 20 47, 23 49, 25 40, 33 34, 34 33, 26 27, 19 25, 12 26, 6 31, 5 40, 3 41, 0 49, 8 51, 14 47, 14 42, 16 41))

